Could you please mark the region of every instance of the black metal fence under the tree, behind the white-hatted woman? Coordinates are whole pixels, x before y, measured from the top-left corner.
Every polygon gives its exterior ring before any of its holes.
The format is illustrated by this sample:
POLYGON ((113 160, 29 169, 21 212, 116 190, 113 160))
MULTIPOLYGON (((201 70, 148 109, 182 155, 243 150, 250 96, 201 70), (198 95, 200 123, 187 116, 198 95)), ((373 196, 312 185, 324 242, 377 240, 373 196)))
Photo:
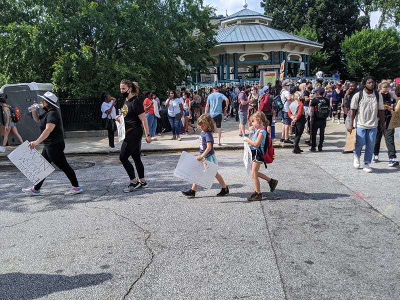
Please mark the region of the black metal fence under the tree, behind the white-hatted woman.
MULTIPOLYGON (((115 109, 122 106, 122 99, 117 100, 115 109)), ((65 131, 101 130, 101 104, 99 98, 60 99, 62 124, 65 131)))

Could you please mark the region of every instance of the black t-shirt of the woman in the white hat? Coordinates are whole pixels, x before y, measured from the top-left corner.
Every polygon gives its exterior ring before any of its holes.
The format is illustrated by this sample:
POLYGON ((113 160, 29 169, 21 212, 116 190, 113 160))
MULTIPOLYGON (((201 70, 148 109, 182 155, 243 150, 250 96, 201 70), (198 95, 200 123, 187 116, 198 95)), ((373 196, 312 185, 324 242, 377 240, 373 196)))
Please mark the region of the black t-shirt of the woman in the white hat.
POLYGON ((56 144, 64 141, 64 129, 62 128, 61 114, 55 108, 52 108, 39 115, 39 127, 43 132, 46 124, 54 124, 54 129, 50 132, 46 139, 43 140, 44 145, 56 144))

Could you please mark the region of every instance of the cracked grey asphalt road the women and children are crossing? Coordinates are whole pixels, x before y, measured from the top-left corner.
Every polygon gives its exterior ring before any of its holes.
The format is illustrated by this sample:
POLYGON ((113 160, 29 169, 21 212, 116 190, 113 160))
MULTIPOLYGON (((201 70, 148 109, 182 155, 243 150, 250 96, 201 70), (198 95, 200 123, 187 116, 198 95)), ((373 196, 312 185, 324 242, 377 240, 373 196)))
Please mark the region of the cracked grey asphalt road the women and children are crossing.
POLYGON ((280 149, 262 168, 276 190, 263 181, 248 202, 242 152, 216 156, 230 194, 215 180, 194 199, 173 176, 178 153, 143 157, 149 188, 131 193, 116 155, 68 157, 74 196, 59 170, 25 196, 29 181, 2 164, 0 299, 400 298, 400 168, 280 149))

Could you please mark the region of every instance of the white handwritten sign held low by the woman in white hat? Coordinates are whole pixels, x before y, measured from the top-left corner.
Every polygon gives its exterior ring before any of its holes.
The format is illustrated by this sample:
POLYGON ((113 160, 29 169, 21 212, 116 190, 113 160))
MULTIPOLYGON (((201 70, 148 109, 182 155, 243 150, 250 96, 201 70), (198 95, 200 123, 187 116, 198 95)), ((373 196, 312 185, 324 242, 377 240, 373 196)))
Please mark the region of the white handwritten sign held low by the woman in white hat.
POLYGON ((28 144, 25 140, 7 157, 26 178, 36 184, 51 174, 54 167, 36 149, 29 149, 28 144))

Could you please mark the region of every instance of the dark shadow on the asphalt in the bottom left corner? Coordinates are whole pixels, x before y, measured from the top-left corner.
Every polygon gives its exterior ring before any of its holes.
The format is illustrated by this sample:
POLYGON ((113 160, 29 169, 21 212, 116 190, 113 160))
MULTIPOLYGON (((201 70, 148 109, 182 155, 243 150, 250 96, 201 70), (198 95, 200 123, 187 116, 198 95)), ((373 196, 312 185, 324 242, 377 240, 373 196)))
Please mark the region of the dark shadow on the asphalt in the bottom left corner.
POLYGON ((75 276, 20 272, 0 274, 0 299, 38 298, 61 290, 97 285, 111 278, 111 273, 75 276))

